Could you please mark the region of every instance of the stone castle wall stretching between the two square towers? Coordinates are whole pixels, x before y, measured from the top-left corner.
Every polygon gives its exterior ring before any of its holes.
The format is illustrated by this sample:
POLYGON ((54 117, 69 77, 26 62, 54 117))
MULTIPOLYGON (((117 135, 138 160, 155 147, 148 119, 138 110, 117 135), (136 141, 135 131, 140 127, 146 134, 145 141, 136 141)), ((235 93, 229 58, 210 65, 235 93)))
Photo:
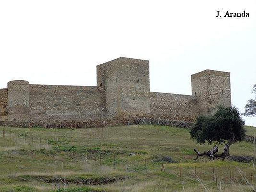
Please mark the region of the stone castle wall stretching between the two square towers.
POLYGON ((150 92, 150 116, 154 119, 193 122, 198 113, 196 96, 150 92))

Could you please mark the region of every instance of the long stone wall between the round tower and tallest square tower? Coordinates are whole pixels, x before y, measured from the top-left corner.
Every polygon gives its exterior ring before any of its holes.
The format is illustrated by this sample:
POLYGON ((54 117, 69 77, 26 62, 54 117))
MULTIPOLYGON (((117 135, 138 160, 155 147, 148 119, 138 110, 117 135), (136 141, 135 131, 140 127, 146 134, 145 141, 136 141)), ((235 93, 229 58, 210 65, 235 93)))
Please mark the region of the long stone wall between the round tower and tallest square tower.
POLYGON ((104 119, 103 89, 94 86, 30 84, 31 122, 104 119))

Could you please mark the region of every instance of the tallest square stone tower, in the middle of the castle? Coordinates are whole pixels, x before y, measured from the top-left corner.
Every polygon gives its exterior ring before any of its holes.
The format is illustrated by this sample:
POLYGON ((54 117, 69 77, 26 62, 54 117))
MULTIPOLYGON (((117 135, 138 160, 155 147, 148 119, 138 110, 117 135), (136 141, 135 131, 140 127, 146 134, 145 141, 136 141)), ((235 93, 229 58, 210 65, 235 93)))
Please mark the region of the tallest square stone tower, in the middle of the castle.
POLYGON ((108 118, 149 114, 148 60, 120 57, 98 65, 97 86, 105 90, 108 118))

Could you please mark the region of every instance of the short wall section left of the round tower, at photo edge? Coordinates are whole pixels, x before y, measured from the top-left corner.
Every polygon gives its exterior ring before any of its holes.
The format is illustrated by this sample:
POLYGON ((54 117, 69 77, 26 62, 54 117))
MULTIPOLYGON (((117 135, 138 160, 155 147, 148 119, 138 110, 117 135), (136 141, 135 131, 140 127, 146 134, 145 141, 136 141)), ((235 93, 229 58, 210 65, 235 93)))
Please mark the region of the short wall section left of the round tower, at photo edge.
POLYGON ((0 121, 8 120, 8 89, 0 89, 0 121))

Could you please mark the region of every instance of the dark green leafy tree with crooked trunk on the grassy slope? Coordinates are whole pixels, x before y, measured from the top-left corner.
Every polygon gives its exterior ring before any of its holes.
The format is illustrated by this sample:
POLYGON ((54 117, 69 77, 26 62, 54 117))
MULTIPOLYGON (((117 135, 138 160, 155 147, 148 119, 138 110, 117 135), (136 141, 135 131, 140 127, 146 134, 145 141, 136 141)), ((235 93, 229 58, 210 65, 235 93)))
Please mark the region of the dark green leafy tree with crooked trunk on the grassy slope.
MULTIPOLYGON (((241 119, 237 108, 220 106, 213 116, 199 116, 190 130, 190 135, 200 144, 208 143, 210 145, 213 142, 217 144, 226 142, 223 153, 218 157, 227 157, 230 145, 244 139, 243 126, 244 120, 241 119)), ((214 146, 213 149, 204 153, 199 153, 196 149, 194 151, 198 156, 206 155, 213 158, 214 154, 218 152, 218 147, 214 146)))

